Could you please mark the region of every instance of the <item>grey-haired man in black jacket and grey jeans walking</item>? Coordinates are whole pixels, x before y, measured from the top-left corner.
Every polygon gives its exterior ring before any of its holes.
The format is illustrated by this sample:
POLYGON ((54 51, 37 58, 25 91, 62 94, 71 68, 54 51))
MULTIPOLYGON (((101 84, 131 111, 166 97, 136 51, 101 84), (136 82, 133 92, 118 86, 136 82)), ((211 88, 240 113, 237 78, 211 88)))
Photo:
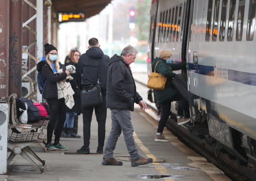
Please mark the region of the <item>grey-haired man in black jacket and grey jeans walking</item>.
POLYGON ((121 161, 113 158, 113 151, 116 148, 116 142, 122 131, 133 167, 145 165, 153 161, 152 158, 140 156, 133 138, 130 111, 134 110, 134 103, 140 105, 141 111, 147 109, 147 105, 136 91, 132 71, 129 66, 132 62, 135 62, 136 54, 137 50, 128 45, 123 49, 121 56, 115 54, 109 61, 107 108, 111 110, 112 128, 106 143, 102 165, 123 165, 121 161))

